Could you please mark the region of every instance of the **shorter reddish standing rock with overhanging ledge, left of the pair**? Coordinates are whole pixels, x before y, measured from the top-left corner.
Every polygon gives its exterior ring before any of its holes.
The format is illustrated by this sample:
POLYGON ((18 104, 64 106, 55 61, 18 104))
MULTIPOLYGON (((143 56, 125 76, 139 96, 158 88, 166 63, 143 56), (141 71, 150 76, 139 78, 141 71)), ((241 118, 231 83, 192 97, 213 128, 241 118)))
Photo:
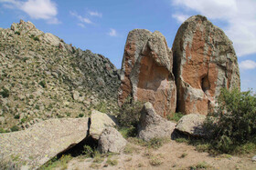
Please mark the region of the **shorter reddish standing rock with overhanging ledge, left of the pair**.
POLYGON ((158 115, 176 111, 173 55, 160 32, 134 29, 124 48, 119 105, 131 96, 151 102, 158 115))

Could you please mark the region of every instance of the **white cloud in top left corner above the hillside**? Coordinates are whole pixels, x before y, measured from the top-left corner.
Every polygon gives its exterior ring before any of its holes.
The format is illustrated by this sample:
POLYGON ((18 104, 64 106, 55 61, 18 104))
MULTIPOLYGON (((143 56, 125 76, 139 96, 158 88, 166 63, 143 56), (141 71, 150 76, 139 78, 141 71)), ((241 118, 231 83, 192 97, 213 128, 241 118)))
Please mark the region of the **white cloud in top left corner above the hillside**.
POLYGON ((44 19, 48 24, 59 24, 56 17, 58 8, 51 0, 27 0, 26 2, 16 0, 0 0, 5 3, 4 7, 9 9, 19 9, 34 19, 44 19))

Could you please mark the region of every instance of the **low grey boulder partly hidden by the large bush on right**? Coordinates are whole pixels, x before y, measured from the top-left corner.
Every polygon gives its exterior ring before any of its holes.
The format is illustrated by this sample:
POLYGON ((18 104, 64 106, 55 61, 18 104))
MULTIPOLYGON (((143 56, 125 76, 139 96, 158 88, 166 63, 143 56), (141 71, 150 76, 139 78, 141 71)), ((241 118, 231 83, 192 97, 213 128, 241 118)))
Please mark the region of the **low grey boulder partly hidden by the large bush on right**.
POLYGON ((178 121, 176 129, 188 135, 206 136, 207 132, 203 126, 206 118, 206 115, 199 114, 184 115, 178 121))

